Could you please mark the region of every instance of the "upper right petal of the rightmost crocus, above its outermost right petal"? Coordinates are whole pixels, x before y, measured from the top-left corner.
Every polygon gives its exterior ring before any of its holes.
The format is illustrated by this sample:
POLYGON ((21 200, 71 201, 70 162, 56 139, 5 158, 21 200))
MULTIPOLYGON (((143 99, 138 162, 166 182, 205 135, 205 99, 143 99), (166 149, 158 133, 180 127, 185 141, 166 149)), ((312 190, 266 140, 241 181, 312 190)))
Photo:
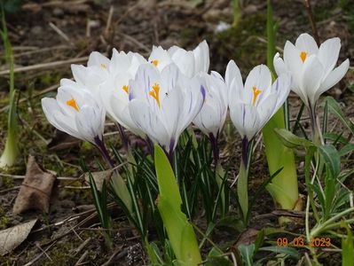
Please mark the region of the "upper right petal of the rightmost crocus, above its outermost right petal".
POLYGON ((337 63, 339 51, 341 50, 341 40, 339 38, 332 38, 326 40, 319 46, 319 62, 325 68, 325 76, 329 74, 335 64, 337 63))

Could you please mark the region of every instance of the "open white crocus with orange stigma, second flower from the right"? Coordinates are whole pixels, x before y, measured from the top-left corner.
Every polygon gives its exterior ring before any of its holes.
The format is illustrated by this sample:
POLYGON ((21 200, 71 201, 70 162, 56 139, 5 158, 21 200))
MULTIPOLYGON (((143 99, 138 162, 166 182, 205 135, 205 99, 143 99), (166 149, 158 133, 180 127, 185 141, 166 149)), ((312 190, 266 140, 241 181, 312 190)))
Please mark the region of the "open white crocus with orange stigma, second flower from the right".
POLYGON ((291 75, 281 74, 271 84, 269 68, 260 65, 251 70, 243 85, 236 64, 231 61, 227 68, 227 78, 234 77, 229 91, 231 119, 241 137, 249 141, 284 104, 290 91, 291 75))

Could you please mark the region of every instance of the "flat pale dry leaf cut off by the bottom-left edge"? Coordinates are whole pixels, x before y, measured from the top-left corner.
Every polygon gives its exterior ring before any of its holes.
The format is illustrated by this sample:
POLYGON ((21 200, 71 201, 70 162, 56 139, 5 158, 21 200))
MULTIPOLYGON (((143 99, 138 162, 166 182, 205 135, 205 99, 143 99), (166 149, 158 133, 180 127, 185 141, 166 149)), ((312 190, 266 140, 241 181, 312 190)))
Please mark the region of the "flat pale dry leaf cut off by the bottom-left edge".
POLYGON ((37 219, 0 231, 0 255, 8 254, 28 238, 37 219))

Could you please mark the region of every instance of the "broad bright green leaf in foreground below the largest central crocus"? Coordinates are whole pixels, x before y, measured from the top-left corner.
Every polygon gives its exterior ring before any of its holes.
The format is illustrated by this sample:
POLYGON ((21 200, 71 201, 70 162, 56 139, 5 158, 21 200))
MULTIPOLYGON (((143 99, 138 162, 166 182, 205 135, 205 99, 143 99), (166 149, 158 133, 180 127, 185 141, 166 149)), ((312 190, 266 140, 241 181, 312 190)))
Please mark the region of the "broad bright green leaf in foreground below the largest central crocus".
POLYGON ((195 266, 201 263, 201 253, 191 223, 181 211, 182 199, 175 175, 166 154, 155 145, 154 159, 160 195, 157 207, 169 235, 178 262, 195 266))

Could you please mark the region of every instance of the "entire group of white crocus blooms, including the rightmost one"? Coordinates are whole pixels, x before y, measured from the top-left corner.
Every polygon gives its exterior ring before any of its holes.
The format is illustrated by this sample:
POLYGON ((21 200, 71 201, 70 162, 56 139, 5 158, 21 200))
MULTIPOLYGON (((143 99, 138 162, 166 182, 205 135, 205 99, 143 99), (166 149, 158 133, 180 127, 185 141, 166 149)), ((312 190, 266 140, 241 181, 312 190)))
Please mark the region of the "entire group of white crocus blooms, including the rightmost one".
POLYGON ((52 125, 97 144, 106 114, 140 137, 148 137, 171 153, 178 137, 192 122, 209 137, 219 135, 230 108, 241 137, 256 136, 285 102, 290 89, 305 104, 315 106, 319 95, 347 72, 349 60, 334 68, 341 44, 327 40, 319 48, 310 35, 287 42, 284 61, 277 54, 279 75, 271 82, 267 66, 256 66, 242 82, 231 60, 224 78, 209 68, 208 43, 193 51, 153 46, 146 60, 136 52, 116 51, 111 59, 94 51, 87 66, 72 66, 75 81, 62 79, 57 98, 43 98, 52 125))

